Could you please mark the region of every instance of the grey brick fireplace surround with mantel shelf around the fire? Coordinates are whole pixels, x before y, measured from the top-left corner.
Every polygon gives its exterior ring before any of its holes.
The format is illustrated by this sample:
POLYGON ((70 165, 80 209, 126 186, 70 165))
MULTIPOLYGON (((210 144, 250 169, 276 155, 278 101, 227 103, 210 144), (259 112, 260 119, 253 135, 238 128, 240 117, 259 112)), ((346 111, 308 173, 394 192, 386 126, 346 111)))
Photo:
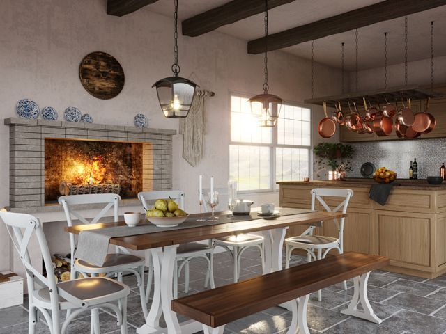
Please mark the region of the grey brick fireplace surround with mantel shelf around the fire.
MULTIPOLYGON (((14 212, 55 212, 59 205, 45 206, 45 138, 151 143, 153 190, 171 189, 173 129, 126 127, 6 118, 10 127, 10 209, 14 212)), ((123 200, 122 205, 139 205, 123 200)), ((85 209, 91 209, 87 206, 85 209)), ((80 208, 79 208, 80 209, 80 208)))

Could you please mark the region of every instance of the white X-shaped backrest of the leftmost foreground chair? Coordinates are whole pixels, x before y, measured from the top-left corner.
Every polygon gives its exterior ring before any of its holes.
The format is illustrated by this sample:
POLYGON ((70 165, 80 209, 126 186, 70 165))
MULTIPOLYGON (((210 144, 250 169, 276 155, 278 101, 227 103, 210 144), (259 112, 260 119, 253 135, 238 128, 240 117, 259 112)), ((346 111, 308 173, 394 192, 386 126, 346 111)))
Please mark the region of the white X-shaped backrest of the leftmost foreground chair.
POLYGON ((49 294, 50 301, 52 305, 57 305, 59 296, 56 288, 56 279, 54 278, 51 254, 49 253, 47 240, 43 233, 42 223, 40 223, 38 218, 31 216, 31 214, 17 214, 15 212, 0 212, 0 218, 3 223, 6 224, 13 245, 19 253, 20 259, 25 267, 29 299, 32 301, 34 283, 37 283, 42 287, 48 287, 50 291, 54 292, 49 294), (13 233, 10 233, 10 230, 13 230, 13 233), (29 241, 33 234, 36 235, 40 251, 42 252, 43 264, 47 272, 47 277, 44 277, 40 271, 33 267, 31 257, 29 257, 29 241))

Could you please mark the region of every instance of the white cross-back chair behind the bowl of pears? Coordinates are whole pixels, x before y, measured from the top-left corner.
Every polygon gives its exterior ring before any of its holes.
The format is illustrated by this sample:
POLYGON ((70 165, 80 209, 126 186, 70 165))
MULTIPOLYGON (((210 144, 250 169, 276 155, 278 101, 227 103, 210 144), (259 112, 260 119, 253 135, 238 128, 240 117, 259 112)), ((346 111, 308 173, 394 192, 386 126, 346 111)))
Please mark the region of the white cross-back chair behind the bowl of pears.
MULTIPOLYGON (((184 198, 185 193, 179 190, 160 190, 160 191, 141 191, 138 193, 138 198, 141 200, 141 203, 144 209, 151 209, 153 207, 152 203, 158 199, 169 199, 175 200, 178 203, 178 207, 180 209, 184 209, 184 198)), ((181 244, 178 247, 176 253, 176 269, 178 271, 177 275, 174 275, 174 299, 178 297, 178 277, 181 274, 181 271, 184 267, 185 269, 185 293, 189 292, 189 262, 194 257, 201 257, 206 259, 208 263, 208 270, 206 271, 206 280, 204 283, 204 287, 208 287, 208 283, 210 283, 210 287, 214 288, 214 275, 213 275, 213 244, 212 241, 209 240, 208 244, 201 244, 198 242, 190 242, 188 244, 181 244), (180 265, 178 267, 178 262, 180 265)), ((153 279, 153 263, 152 257, 149 252, 146 253, 146 262, 148 265, 148 278, 147 278, 147 288, 146 288, 146 301, 148 301, 148 296, 151 292, 151 285, 153 279)))

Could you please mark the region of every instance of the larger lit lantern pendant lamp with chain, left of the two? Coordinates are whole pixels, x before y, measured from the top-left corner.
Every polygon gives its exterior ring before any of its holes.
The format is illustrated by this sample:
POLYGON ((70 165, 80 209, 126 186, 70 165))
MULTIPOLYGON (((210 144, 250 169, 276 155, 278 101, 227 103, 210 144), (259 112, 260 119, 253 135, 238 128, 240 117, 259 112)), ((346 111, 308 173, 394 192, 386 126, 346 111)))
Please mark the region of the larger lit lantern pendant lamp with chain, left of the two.
POLYGON ((158 80, 152 87, 156 87, 158 101, 164 116, 167 118, 185 118, 189 113, 197 84, 189 79, 179 77, 180 65, 178 65, 178 0, 175 3, 175 32, 174 32, 174 65, 172 65, 173 77, 158 80))

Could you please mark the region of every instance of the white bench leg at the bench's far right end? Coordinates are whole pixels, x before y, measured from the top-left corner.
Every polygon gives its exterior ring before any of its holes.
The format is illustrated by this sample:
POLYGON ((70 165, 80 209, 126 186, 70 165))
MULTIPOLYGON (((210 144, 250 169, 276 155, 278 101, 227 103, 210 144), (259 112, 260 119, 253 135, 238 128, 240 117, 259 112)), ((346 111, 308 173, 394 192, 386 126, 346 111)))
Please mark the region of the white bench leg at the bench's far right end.
POLYGON ((369 320, 375 324, 380 324, 383 320, 379 319, 374 310, 371 308, 369 299, 367 298, 367 280, 369 280, 369 273, 364 273, 361 276, 355 277, 353 299, 346 310, 342 310, 341 313, 344 315, 353 315, 353 317, 369 320), (363 310, 358 310, 357 305, 361 303, 363 310))

